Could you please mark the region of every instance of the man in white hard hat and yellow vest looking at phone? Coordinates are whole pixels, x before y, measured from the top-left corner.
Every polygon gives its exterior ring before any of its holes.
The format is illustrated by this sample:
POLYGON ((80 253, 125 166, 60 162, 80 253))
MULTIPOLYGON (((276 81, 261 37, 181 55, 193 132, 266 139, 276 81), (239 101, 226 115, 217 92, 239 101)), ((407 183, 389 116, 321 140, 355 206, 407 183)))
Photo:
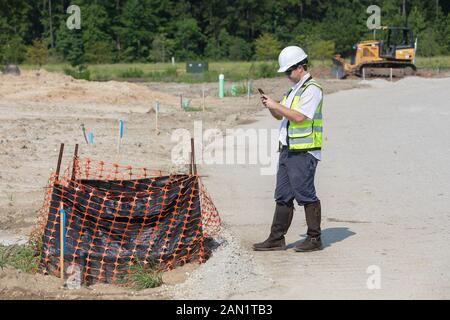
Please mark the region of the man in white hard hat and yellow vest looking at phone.
POLYGON ((275 189, 276 209, 270 235, 253 245, 256 251, 285 250, 285 234, 291 225, 294 199, 304 206, 308 226, 306 239, 294 249, 299 252, 322 249, 321 207, 314 176, 322 147, 321 86, 308 73, 308 56, 297 46, 284 48, 280 69, 295 84, 281 103, 262 94, 261 101, 274 118, 281 120, 280 157, 275 189))

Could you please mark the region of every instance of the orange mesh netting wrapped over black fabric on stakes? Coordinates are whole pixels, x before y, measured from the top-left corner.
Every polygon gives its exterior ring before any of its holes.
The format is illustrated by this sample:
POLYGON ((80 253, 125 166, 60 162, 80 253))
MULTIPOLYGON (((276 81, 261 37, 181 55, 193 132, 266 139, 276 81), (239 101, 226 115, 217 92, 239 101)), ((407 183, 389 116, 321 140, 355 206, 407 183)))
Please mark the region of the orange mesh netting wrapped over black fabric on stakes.
POLYGON ((60 272, 60 217, 65 219, 65 267, 85 283, 115 283, 134 264, 169 270, 210 256, 205 238, 220 218, 198 175, 76 159, 52 175, 39 223, 43 273, 60 272), (63 208, 63 210, 61 210, 63 208))

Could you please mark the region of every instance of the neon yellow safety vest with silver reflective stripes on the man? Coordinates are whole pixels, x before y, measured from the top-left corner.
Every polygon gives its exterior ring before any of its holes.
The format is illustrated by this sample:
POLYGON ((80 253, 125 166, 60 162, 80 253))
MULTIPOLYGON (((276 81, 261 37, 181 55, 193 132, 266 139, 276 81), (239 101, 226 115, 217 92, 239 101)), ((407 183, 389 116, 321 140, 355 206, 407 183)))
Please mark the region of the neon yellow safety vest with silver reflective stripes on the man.
MULTIPOLYGON (((316 86, 320 90, 322 87, 312 78, 307 80, 302 88, 296 93, 292 103, 289 106, 290 109, 296 109, 300 103, 301 96, 303 92, 309 86, 316 86)), ((282 104, 286 103, 288 92, 282 100, 282 104)), ((288 121, 287 128, 287 142, 289 150, 318 150, 322 148, 322 102, 323 96, 317 106, 316 112, 314 113, 313 119, 305 119, 302 122, 288 121)))

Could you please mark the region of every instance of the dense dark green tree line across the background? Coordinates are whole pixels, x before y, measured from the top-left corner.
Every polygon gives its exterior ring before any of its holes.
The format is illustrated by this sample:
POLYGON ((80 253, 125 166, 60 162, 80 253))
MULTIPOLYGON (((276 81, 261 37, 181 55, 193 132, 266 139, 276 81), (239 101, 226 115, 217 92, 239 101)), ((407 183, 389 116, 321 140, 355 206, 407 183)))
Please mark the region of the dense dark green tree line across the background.
POLYGON ((410 26, 418 54, 450 53, 450 1, 443 0, 0 0, 2 63, 73 65, 190 59, 265 60, 297 44, 313 56, 348 54, 381 24, 410 26), (81 29, 69 29, 77 5, 81 29))

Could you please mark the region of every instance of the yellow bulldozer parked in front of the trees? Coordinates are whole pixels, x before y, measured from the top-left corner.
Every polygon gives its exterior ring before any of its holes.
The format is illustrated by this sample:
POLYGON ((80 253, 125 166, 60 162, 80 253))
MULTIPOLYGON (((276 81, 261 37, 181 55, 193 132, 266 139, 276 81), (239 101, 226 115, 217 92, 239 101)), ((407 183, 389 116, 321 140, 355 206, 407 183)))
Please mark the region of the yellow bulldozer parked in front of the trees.
POLYGON ((380 40, 362 41, 353 46, 351 62, 340 55, 333 58, 332 74, 337 78, 349 75, 378 77, 414 75, 417 39, 408 27, 382 27, 380 40))

